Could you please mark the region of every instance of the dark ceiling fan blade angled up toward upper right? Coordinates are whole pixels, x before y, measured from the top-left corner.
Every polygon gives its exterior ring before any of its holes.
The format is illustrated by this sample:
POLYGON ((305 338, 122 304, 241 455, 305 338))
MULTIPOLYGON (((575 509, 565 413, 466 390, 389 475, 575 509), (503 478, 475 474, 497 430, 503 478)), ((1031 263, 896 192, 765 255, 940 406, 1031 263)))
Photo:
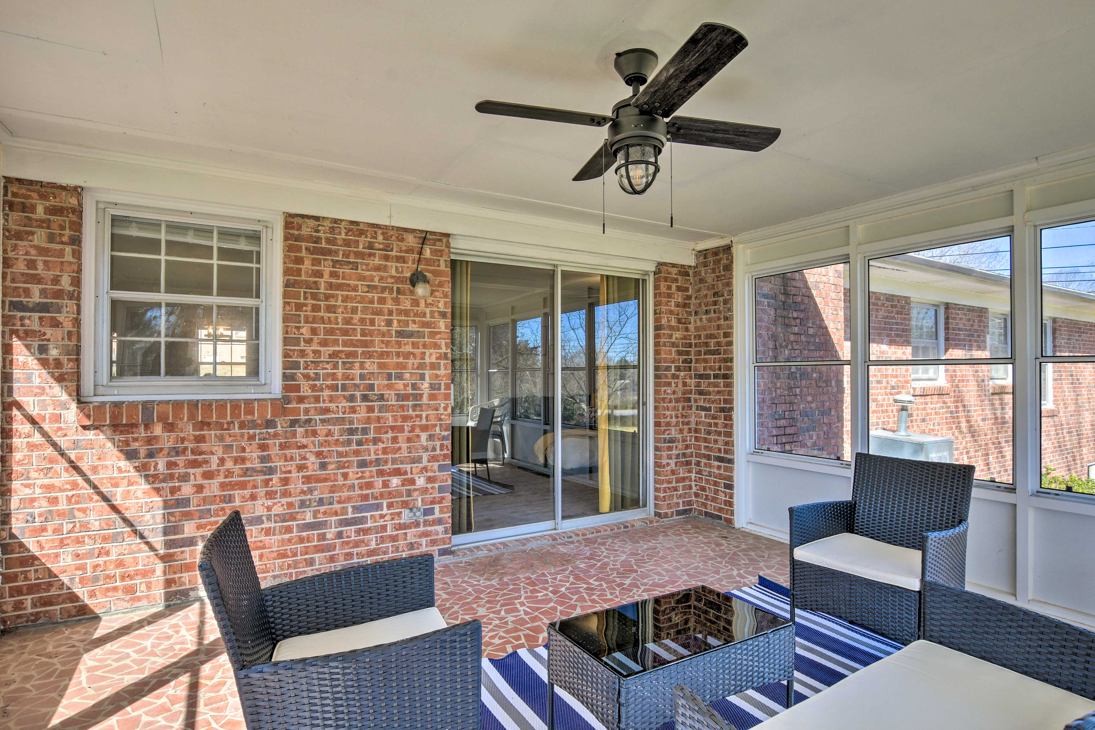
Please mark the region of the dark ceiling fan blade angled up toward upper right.
POLYGON ((729 25, 704 23, 631 103, 668 117, 748 45, 746 36, 729 25))

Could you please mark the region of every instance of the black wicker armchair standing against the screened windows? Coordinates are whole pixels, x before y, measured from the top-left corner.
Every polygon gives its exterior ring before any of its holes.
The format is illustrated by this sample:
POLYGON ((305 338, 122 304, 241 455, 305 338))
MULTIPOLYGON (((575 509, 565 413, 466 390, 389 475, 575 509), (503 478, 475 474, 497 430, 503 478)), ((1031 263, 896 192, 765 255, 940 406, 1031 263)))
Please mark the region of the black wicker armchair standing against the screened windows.
POLYGON ((818 611, 901 643, 915 641, 923 582, 966 585, 972 489, 972 466, 856 454, 851 500, 791 507, 792 616, 796 608, 818 611), (896 546, 919 574, 907 577, 904 586, 891 584, 810 562, 818 548, 800 549, 845 533, 883 551, 896 546))

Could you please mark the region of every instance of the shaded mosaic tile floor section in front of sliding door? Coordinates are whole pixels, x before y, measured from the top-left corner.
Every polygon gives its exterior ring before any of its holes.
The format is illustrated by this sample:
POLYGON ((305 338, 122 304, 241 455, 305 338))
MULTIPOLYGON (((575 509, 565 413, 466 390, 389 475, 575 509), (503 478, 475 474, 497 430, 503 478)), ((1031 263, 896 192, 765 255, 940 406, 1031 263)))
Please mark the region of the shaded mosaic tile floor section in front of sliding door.
POLYGON ((450 623, 483 621, 483 653, 504 657, 548 639, 567 616, 705 584, 729 591, 764 575, 786 584, 787 546, 706 520, 446 560, 437 605, 450 623))

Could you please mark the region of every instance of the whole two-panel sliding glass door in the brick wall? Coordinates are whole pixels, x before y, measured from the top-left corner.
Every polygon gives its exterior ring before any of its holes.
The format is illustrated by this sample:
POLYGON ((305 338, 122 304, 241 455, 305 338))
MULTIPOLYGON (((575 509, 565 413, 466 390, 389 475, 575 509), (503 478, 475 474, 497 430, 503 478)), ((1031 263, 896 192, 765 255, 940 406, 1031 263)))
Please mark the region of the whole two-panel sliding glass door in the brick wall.
POLYGON ((646 280, 456 259, 452 280, 454 541, 645 510, 646 280))

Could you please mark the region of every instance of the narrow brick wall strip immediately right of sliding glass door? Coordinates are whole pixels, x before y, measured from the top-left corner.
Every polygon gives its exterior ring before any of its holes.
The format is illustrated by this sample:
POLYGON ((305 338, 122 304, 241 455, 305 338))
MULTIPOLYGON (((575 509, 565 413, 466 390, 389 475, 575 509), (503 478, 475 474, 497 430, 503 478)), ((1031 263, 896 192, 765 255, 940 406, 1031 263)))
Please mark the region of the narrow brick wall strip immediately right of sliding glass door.
POLYGON ((692 266, 654 272, 654 510, 690 514, 692 489, 692 266))

